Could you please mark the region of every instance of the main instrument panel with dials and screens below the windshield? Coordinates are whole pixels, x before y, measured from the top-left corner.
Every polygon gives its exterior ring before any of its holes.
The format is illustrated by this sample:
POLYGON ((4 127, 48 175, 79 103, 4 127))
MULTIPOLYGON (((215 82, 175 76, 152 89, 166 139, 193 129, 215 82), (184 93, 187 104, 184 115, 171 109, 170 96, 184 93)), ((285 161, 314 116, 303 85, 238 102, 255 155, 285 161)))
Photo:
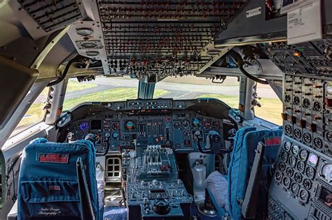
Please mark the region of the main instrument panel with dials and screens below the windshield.
POLYGON ((231 118, 208 116, 204 110, 188 109, 189 105, 190 101, 171 99, 104 103, 106 110, 89 113, 87 117, 71 122, 67 133, 74 140, 94 133, 99 153, 106 149, 121 152, 134 148, 138 142, 172 147, 174 152, 198 152, 197 139, 205 145, 209 131, 218 132, 223 139, 225 123, 235 128, 231 118))

